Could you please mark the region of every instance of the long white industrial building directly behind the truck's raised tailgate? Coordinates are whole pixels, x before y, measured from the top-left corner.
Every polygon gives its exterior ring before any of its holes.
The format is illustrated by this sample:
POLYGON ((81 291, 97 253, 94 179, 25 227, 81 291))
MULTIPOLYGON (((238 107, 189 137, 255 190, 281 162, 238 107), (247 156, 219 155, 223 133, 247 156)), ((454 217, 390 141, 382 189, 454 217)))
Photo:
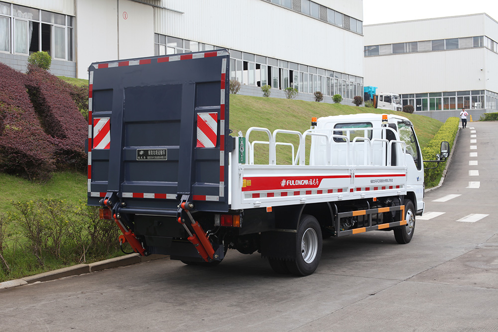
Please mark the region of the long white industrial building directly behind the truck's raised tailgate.
MULTIPOLYGON (((362 0, 0 0, 0 61, 87 78, 92 62, 226 48, 242 92, 363 95, 362 0)), ((330 97, 325 100, 330 101, 330 97)))

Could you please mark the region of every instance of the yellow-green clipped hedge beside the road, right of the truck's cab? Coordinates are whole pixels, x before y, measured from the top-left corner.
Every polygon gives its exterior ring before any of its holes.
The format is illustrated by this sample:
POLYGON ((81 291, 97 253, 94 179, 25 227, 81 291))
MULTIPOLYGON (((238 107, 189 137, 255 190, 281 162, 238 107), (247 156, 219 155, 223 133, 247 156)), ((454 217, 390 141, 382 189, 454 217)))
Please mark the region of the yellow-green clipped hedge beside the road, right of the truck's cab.
MULTIPOLYGON (((435 160, 436 154, 441 151, 441 142, 447 141, 450 143, 450 151, 453 149, 455 137, 458 132, 460 119, 458 117, 449 117, 446 122, 439 128, 439 131, 434 135, 432 140, 422 149, 423 160, 435 160)), ((433 167, 436 163, 427 163, 425 167, 433 167)), ((432 188, 439 184, 443 171, 446 167, 446 161, 439 164, 439 167, 425 170, 424 181, 426 188, 432 188)))

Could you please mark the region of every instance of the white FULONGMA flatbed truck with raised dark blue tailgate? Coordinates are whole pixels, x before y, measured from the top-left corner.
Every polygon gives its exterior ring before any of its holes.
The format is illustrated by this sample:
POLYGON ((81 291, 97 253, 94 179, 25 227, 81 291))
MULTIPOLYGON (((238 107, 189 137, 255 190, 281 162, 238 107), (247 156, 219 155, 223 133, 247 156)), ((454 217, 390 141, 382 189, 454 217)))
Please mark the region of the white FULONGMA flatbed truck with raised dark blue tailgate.
POLYGON ((257 251, 298 276, 316 270, 323 238, 393 230, 410 242, 424 168, 407 118, 328 116, 305 132, 234 137, 229 64, 219 50, 90 67, 88 204, 104 206, 122 242, 196 265, 257 251), (284 135, 298 141, 288 164, 276 160, 284 135), (264 164, 254 144, 268 149, 264 164))

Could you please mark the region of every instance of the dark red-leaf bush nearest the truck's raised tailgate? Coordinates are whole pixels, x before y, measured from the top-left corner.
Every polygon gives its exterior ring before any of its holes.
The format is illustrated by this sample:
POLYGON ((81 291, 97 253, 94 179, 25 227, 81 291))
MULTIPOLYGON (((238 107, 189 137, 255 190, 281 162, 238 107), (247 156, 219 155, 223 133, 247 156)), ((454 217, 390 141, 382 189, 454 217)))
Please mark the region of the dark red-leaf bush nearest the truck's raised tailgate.
POLYGON ((57 167, 86 167, 88 124, 71 98, 71 85, 43 69, 28 66, 26 87, 45 132, 55 144, 57 167))

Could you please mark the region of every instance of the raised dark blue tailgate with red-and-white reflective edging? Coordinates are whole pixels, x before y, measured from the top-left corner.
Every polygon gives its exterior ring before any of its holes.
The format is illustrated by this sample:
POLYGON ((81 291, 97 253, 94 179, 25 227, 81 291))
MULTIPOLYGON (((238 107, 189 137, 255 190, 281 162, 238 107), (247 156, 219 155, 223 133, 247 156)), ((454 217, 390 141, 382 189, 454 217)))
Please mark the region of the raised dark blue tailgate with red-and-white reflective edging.
POLYGON ((116 193, 128 211, 173 215, 190 195, 228 211, 229 63, 221 50, 90 66, 89 205, 116 193))

